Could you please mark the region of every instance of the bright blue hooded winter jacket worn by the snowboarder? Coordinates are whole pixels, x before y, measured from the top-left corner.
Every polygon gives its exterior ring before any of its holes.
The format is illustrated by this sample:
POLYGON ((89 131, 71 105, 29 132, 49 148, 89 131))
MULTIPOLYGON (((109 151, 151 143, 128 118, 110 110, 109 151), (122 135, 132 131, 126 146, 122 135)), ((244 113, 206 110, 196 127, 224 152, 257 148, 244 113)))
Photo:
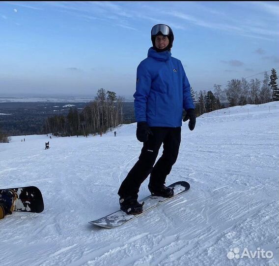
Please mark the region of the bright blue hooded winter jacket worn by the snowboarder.
POLYGON ((137 122, 150 127, 181 127, 183 108, 195 108, 181 61, 153 47, 138 66, 134 98, 137 122))

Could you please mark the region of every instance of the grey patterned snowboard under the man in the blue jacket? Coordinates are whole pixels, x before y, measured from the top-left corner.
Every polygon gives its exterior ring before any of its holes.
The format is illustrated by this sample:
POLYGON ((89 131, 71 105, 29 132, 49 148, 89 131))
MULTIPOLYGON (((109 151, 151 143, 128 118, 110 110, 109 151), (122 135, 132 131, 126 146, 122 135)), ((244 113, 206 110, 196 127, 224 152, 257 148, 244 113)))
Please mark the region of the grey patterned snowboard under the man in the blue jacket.
POLYGON ((89 224, 93 224, 96 226, 100 227, 105 227, 105 228, 114 228, 121 226, 129 221, 132 221, 133 219, 137 218, 141 214, 157 207, 159 204, 169 201, 178 195, 181 195, 188 191, 190 189, 190 184, 186 181, 179 181, 176 183, 173 183, 169 185, 168 187, 173 188, 174 190, 174 196, 171 198, 163 198, 163 197, 157 197, 157 196, 147 196, 144 199, 141 199, 139 202, 144 201, 143 205, 143 211, 140 214, 126 214, 122 210, 115 211, 107 216, 104 216, 100 219, 94 220, 89 222, 89 224))

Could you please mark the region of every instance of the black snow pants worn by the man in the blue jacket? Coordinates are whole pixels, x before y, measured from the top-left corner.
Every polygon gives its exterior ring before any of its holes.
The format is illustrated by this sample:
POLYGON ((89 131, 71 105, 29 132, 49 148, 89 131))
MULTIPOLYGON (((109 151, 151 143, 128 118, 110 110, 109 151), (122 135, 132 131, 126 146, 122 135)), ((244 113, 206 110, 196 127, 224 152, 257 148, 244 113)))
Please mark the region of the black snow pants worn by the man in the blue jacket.
POLYGON ((176 162, 181 141, 181 127, 150 127, 150 129, 153 135, 149 134, 148 141, 143 143, 139 161, 130 170, 118 190, 121 198, 132 196, 138 199, 140 185, 149 174, 149 183, 152 187, 162 186, 176 162), (162 143, 163 154, 155 164, 162 143))

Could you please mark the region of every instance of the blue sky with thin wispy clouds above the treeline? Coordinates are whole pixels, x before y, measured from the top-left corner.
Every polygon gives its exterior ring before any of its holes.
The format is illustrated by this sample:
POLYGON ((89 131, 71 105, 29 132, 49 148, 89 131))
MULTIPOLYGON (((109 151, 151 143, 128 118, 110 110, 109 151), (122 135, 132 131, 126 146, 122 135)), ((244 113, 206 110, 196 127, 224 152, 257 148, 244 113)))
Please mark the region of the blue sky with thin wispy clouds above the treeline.
POLYGON ((195 91, 279 71, 279 2, 2 1, 0 97, 132 96, 158 23, 195 91))

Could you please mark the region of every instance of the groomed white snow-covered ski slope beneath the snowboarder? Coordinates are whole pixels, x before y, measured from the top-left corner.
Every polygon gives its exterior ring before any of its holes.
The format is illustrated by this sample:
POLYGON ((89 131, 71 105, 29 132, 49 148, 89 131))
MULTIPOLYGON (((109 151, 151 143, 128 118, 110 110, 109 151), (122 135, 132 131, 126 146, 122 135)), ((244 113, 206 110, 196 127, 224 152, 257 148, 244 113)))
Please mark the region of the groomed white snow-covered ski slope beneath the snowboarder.
POLYGON ((279 102, 204 114, 193 132, 184 123, 167 184, 190 191, 104 229, 88 222, 119 208, 142 146, 136 124, 116 131, 0 144, 0 188, 34 185, 45 201, 42 213, 0 220, 1 266, 279 265, 279 102))

